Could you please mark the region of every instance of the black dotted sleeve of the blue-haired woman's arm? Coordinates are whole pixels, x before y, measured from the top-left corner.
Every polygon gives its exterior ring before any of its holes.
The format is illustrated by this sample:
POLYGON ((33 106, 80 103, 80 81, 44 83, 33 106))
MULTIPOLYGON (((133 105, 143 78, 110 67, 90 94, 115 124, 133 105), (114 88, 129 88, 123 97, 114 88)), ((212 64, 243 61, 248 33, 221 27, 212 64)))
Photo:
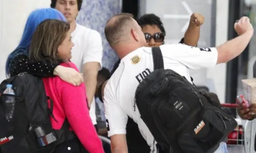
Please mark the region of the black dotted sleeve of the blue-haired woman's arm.
POLYGON ((19 73, 27 72, 41 78, 54 77, 53 71, 58 64, 46 61, 35 62, 30 61, 25 54, 15 56, 10 62, 10 77, 19 73))

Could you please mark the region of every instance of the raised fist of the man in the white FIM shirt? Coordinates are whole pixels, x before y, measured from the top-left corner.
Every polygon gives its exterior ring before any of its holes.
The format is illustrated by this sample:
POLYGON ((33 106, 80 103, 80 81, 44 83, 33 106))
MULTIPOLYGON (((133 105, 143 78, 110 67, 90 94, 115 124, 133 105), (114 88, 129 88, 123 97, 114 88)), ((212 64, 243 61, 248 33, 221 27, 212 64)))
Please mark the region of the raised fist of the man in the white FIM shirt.
POLYGON ((234 30, 238 35, 242 35, 245 32, 253 33, 253 27, 250 23, 250 19, 246 16, 241 17, 236 23, 234 23, 234 30))

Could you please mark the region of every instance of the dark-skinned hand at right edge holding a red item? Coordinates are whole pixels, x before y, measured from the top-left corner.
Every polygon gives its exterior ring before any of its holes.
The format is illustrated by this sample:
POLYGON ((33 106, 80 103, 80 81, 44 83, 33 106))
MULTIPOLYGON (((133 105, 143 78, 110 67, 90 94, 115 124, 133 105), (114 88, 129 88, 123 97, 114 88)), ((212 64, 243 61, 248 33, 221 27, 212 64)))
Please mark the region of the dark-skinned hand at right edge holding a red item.
POLYGON ((245 108, 246 105, 243 103, 241 106, 238 107, 238 114, 242 119, 251 120, 254 118, 254 116, 251 113, 251 110, 256 110, 255 105, 251 105, 249 108, 245 108))

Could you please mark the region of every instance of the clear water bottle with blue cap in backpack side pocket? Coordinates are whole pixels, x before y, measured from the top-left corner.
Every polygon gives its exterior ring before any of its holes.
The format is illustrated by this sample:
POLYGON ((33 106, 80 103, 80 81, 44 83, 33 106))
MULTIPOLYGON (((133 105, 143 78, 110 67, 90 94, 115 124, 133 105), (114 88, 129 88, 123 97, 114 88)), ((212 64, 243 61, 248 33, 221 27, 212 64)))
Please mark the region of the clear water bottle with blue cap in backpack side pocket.
POLYGON ((5 100, 6 119, 7 120, 11 120, 13 112, 14 112, 14 105, 15 105, 15 96, 14 96, 15 92, 12 89, 12 85, 11 84, 6 85, 6 89, 5 89, 3 94, 7 94, 6 95, 6 100, 5 100), (13 96, 11 96, 11 95, 13 95, 13 96))

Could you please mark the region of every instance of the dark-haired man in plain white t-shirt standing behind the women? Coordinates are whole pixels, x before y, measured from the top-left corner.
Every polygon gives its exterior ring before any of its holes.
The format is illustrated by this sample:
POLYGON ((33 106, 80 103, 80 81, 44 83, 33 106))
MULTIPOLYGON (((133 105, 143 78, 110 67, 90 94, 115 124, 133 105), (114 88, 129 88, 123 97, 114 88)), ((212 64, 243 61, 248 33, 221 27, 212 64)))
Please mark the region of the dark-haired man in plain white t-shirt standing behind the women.
POLYGON ((82 0, 51 0, 51 8, 60 11, 70 23, 72 31, 71 61, 76 64, 83 73, 84 84, 90 105, 90 116, 93 124, 96 125, 94 93, 97 85, 98 70, 102 62, 102 41, 100 34, 92 29, 83 27, 76 23, 76 16, 81 9, 82 0))

